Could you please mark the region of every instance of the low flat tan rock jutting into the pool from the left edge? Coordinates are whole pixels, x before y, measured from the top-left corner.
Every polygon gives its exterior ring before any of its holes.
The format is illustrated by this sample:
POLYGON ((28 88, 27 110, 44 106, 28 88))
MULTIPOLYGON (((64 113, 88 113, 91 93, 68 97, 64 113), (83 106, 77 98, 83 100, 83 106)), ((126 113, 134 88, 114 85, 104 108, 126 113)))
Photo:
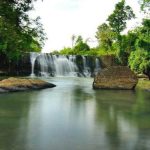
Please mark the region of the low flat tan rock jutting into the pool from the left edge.
POLYGON ((55 87, 55 85, 39 79, 22 79, 11 77, 0 81, 0 93, 52 87, 55 87))

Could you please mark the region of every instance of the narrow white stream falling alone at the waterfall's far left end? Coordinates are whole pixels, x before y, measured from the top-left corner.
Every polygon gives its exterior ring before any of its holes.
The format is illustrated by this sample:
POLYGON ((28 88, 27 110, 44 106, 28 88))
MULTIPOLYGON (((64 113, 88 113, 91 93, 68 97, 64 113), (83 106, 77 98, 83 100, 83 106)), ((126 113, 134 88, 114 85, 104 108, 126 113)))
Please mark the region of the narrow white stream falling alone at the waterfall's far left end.
POLYGON ((35 74, 34 74, 34 66, 35 66, 35 60, 37 58, 39 54, 38 53, 35 53, 35 52, 32 52, 30 53, 30 61, 31 61, 31 77, 34 77, 35 74))

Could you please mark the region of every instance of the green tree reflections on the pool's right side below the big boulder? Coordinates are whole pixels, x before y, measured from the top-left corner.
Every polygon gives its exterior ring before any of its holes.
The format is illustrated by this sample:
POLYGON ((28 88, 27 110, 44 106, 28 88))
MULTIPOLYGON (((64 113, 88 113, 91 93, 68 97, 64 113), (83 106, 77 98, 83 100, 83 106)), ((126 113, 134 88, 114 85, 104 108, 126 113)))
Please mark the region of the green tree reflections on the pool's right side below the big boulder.
POLYGON ((148 150, 150 140, 150 101, 138 91, 96 91, 97 125, 105 126, 105 135, 111 149, 148 150), (148 132, 143 132, 147 129, 148 132), (142 136, 145 137, 145 142, 142 136), (141 143, 145 143, 144 145, 141 143), (138 146, 137 146, 138 145, 138 146))

